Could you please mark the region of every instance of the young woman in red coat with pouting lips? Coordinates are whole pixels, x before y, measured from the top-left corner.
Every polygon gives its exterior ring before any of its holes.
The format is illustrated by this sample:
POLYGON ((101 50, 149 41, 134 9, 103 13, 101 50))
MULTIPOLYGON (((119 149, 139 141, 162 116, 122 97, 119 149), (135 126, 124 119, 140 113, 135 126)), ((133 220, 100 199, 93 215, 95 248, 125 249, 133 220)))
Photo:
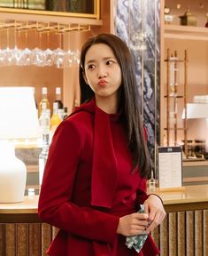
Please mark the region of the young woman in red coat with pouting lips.
POLYGON ((111 34, 89 38, 80 84, 84 103, 58 126, 42 180, 39 216, 59 228, 48 254, 157 255, 150 235, 140 254, 125 244, 166 215, 160 198, 146 194, 150 157, 127 45, 111 34))

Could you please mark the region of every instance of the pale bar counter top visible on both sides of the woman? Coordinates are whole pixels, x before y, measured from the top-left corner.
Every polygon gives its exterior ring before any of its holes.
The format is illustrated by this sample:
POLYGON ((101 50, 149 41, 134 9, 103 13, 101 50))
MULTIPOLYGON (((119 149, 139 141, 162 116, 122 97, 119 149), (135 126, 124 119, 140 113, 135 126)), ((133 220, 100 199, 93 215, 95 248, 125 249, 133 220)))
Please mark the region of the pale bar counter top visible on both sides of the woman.
MULTIPOLYGON (((166 206, 178 207, 184 204, 208 205, 208 185, 185 186, 179 191, 159 191, 158 194, 166 206)), ((25 196, 24 201, 16 204, 0 204, 0 214, 35 214, 37 213, 38 196, 25 196)), ((207 209, 208 207, 206 207, 207 209)))

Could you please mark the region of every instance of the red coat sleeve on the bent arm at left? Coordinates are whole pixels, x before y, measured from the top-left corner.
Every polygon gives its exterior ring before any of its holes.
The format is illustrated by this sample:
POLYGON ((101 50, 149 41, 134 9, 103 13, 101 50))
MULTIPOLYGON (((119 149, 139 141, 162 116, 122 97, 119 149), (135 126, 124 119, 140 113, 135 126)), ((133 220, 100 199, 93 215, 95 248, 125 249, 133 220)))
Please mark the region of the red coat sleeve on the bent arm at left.
POLYGON ((39 197, 41 220, 73 235, 112 243, 119 217, 71 202, 81 156, 81 137, 72 122, 63 121, 53 136, 39 197))

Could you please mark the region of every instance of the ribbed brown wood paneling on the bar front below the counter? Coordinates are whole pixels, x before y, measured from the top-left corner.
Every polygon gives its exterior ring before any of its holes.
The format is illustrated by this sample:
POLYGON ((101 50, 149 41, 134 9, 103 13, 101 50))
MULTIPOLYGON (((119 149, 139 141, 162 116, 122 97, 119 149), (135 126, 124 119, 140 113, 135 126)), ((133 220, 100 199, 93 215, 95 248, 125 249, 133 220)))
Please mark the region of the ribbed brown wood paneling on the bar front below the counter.
MULTIPOLYGON (((0 255, 45 256, 57 232, 46 223, 0 224, 0 255)), ((208 255, 208 210, 167 212, 151 236, 160 256, 208 255)))

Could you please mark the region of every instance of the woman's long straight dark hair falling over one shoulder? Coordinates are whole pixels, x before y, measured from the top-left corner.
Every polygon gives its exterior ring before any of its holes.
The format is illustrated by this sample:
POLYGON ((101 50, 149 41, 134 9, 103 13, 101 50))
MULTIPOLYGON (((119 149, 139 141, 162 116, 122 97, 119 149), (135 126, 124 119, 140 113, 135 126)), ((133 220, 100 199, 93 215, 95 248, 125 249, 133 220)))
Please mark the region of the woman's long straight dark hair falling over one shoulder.
POLYGON ((122 84, 120 86, 120 111, 125 116, 127 123, 128 147, 133 154, 133 167, 139 166, 142 177, 147 178, 150 174, 150 154, 145 141, 143 122, 138 106, 138 89, 135 80, 135 65, 131 53, 118 36, 112 34, 99 34, 90 37, 81 48, 80 84, 81 103, 94 97, 94 92, 86 84, 83 74, 85 73, 85 56, 93 44, 107 44, 112 49, 121 69, 122 84))

